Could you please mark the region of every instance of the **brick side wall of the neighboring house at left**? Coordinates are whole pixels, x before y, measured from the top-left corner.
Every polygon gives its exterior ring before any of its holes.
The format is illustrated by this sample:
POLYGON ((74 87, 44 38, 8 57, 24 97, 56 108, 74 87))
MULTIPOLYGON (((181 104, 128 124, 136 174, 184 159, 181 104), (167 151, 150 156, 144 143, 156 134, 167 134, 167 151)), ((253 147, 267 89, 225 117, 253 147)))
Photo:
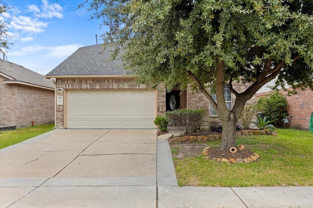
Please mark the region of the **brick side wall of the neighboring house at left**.
POLYGON ((0 76, 0 126, 54 123, 54 90, 5 84, 0 76))

